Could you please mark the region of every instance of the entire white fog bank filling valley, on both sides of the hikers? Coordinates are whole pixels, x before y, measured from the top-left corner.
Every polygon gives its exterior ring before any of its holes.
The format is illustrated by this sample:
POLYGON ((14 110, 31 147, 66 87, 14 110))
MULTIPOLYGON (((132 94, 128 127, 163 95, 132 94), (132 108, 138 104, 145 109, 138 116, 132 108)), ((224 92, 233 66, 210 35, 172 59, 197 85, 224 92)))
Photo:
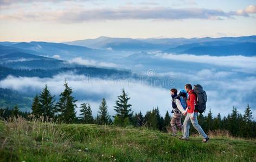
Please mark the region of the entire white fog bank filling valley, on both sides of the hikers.
MULTIPOLYGON (((168 74, 165 73, 165 75, 168 74)), ((182 78, 182 76, 185 76, 185 73, 178 73, 176 75, 182 78)), ((211 109, 215 116, 220 112, 223 117, 231 113, 233 106, 238 107, 239 112, 243 113, 248 103, 251 104, 251 106, 255 106, 254 103, 256 102, 256 82, 254 81, 256 77, 239 79, 231 77, 232 75, 233 73, 229 72, 204 69, 195 74, 191 74, 191 76, 195 77, 190 78, 187 76, 185 82, 191 84, 200 83, 203 85, 208 95, 208 108, 206 113, 211 109), (207 77, 212 74, 214 75, 207 77), (231 78, 228 79, 229 77, 231 78)), ((102 98, 106 98, 110 114, 115 114, 113 106, 123 88, 131 97, 130 103, 135 112, 142 111, 145 113, 151 110, 152 107, 159 106, 161 115, 164 116, 166 111, 170 112, 171 110, 169 89, 148 86, 140 82, 132 82, 132 79, 129 80, 129 78, 127 80, 103 80, 99 78, 88 78, 84 75, 76 75, 72 72, 61 73, 53 78, 8 76, 0 80, 0 87, 21 92, 38 93, 42 90, 44 84, 47 84, 52 94, 58 96, 63 91, 64 79, 67 79, 69 86, 72 87, 74 96, 78 99, 79 104, 82 102, 92 104, 94 116, 97 114, 102 98)), ((184 80, 175 80, 175 87, 178 90, 183 89, 183 82, 184 80)), ((255 107, 252 108, 255 118, 255 107)), ((77 111, 79 113, 79 108, 77 111)))

